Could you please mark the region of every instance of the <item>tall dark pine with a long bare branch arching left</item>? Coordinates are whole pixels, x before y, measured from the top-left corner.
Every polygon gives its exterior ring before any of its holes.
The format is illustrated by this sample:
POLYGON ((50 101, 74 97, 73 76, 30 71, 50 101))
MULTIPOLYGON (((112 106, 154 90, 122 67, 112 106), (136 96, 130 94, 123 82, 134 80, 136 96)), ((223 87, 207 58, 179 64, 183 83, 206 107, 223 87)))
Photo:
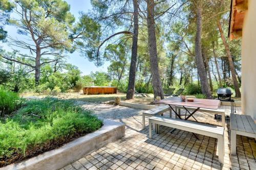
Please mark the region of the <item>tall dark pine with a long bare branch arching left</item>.
MULTIPOLYGON (((99 54, 100 47, 112 38, 119 39, 121 42, 132 38, 132 53, 131 64, 129 70, 129 82, 126 94, 126 99, 134 98, 135 92, 135 78, 136 78, 136 63, 137 63, 137 42, 139 33, 139 19, 138 19, 138 1, 137 0, 106 0, 106 1, 92 1, 94 11, 97 19, 104 28, 105 38, 99 44, 96 60, 101 57, 99 54), (132 5, 131 5, 132 4, 132 5), (133 9, 131 8, 133 7, 133 9), (114 32, 115 28, 125 29, 125 31, 114 32), (109 34, 111 32, 111 34, 109 34)), ((97 63, 98 64, 98 63, 97 63)))

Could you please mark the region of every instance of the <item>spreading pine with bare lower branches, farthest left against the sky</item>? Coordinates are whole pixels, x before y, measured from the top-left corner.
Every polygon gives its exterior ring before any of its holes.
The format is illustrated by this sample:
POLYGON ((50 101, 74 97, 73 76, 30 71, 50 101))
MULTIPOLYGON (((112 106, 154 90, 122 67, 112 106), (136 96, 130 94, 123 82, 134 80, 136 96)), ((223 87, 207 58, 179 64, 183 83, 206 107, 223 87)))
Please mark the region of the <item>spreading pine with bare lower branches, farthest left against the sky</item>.
POLYGON ((17 18, 11 20, 18 28, 18 34, 26 36, 28 41, 9 37, 12 46, 28 51, 22 54, 17 51, 17 58, 3 58, 24 64, 35 70, 35 85, 39 84, 40 68, 42 65, 55 62, 63 57, 63 51, 74 51, 77 46, 85 46, 89 38, 96 39, 99 33, 97 23, 86 14, 81 14, 80 22, 74 23, 75 18, 69 12, 70 6, 62 0, 20 0, 15 1, 14 13, 17 18), (86 25, 88 21, 90 27, 86 25), (94 29, 92 29, 94 28, 94 29), (33 61, 34 64, 28 63, 33 61))

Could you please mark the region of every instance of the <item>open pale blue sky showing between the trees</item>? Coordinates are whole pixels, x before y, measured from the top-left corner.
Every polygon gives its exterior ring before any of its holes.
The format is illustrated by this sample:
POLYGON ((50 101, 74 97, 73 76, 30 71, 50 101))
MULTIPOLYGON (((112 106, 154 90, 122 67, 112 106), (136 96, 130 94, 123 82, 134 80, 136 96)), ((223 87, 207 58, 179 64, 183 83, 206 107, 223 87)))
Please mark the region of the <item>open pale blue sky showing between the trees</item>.
MULTIPOLYGON (((68 4, 70 4, 70 12, 76 17, 76 20, 78 20, 79 17, 79 11, 88 12, 88 10, 92 9, 91 1, 90 0, 66 0, 68 4)), ((11 15, 12 17, 12 15, 11 15)), ((17 29, 14 26, 6 26, 5 30, 8 31, 8 36, 11 36, 13 38, 17 38, 19 40, 25 40, 26 37, 20 36, 17 34, 17 29)), ((13 51, 12 48, 7 43, 0 43, 1 46, 3 46, 4 50, 6 51, 13 51)), ((22 51, 22 50, 20 50, 22 51)), ((77 66, 81 71, 82 75, 89 75, 91 71, 107 71, 109 63, 106 62, 100 67, 97 67, 94 65, 93 62, 90 62, 86 57, 81 57, 79 53, 74 52, 72 54, 68 53, 67 56, 69 58, 67 59, 67 63, 71 63, 75 66, 77 66)))

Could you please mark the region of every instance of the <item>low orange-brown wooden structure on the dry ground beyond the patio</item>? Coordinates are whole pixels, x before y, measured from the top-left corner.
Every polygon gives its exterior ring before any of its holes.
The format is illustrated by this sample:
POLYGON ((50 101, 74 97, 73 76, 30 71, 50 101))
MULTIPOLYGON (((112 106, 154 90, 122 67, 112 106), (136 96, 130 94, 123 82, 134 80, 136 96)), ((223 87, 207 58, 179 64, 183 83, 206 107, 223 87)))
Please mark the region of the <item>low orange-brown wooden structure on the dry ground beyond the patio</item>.
POLYGON ((116 94, 116 87, 83 87, 83 94, 116 94))

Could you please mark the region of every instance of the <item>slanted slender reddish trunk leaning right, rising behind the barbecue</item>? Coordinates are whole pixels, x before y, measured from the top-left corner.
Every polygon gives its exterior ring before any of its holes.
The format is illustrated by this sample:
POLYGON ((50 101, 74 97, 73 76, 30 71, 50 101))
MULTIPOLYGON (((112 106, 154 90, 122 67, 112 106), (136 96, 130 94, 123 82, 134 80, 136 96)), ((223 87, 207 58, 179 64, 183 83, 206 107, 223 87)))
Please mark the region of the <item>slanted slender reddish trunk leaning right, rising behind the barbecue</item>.
POLYGON ((238 98, 241 98, 241 92, 240 92, 240 89, 239 89, 238 80, 237 80, 237 76, 236 76, 236 71, 234 69, 233 60, 232 60, 232 57, 231 57, 231 54, 230 54, 229 45, 226 42, 226 39, 224 37, 220 21, 217 22, 217 25, 218 25, 218 28, 219 28, 219 31, 220 31, 220 34, 221 34, 222 42, 223 42, 223 44, 225 46, 225 49, 226 49, 226 53, 227 53, 227 57, 228 57, 228 61, 229 61, 229 69, 231 71, 231 76, 232 76, 232 80, 233 80, 233 84, 234 84, 234 91, 236 91, 236 96, 238 98))

